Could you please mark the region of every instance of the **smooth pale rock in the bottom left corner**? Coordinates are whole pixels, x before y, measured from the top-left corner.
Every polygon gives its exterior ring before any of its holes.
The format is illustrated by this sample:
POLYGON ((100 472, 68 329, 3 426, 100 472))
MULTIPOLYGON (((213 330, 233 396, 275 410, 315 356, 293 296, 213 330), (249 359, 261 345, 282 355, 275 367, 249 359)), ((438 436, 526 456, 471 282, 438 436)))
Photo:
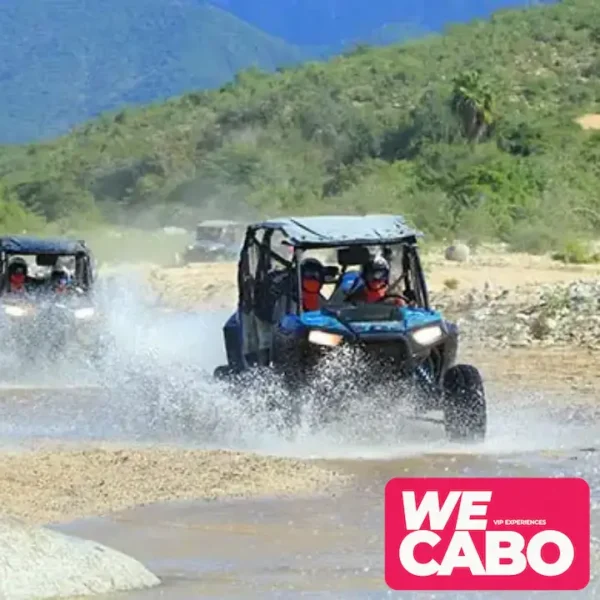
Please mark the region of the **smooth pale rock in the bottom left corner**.
POLYGON ((29 600, 155 587, 138 561, 96 542, 0 517, 0 598, 29 600))

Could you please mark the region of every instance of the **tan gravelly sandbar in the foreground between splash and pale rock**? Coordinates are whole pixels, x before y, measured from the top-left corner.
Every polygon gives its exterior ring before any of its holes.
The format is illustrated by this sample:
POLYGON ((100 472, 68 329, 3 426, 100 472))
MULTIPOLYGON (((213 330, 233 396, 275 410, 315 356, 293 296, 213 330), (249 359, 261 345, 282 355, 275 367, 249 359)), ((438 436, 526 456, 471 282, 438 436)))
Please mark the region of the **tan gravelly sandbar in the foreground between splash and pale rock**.
POLYGON ((335 492, 348 478, 308 461, 238 452, 49 445, 4 453, 0 481, 3 512, 39 524, 166 500, 335 492))

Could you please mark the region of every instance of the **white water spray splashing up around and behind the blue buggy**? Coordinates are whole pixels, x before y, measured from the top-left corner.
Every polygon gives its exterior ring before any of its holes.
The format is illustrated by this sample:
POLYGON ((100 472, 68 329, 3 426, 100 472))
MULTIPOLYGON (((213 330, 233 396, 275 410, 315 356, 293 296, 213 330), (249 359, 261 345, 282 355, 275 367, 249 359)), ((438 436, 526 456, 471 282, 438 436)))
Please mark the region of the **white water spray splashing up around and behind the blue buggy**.
MULTIPOLYGON (((352 382, 360 379, 362 367, 350 355, 323 362, 290 425, 288 412, 277 408, 289 406, 289 398, 275 375, 253 374, 241 394, 212 378, 224 361, 227 313, 165 310, 145 280, 129 272, 106 281, 101 290, 103 328, 111 340, 102 359, 93 364, 72 356, 62 364, 53 361, 43 382, 46 389, 30 390, 29 401, 14 413, 0 408, 5 434, 165 441, 301 457, 393 458, 568 449, 597 433, 587 423, 567 421, 564 410, 552 413, 542 393, 525 398, 490 389, 486 442, 450 444, 441 425, 406 418, 410 396, 405 390, 382 385, 368 397, 357 392, 352 382), (48 392, 49 384, 55 392, 48 392), (83 393, 82 385, 96 390, 83 393), (332 399, 344 405, 339 418, 328 418, 332 399)), ((40 381, 30 369, 32 388, 40 381)))

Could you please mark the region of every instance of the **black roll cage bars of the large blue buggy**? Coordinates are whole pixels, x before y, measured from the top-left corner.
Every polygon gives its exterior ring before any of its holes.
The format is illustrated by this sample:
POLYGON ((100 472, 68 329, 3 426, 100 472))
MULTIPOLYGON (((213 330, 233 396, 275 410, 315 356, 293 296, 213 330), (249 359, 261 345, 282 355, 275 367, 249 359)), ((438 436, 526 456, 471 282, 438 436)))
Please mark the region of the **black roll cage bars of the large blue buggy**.
MULTIPOLYGON (((400 282, 404 282, 405 292, 411 294, 419 306, 425 309, 430 308, 427 284, 418 253, 417 237, 420 236, 418 232, 410 232, 408 235, 400 237, 392 236, 392 239, 332 240, 331 242, 302 243, 289 239, 290 236, 287 235, 284 227, 269 225, 268 222, 259 223, 246 228, 238 261, 238 308, 243 312, 249 312, 257 306, 257 301, 259 301, 262 295, 261 290, 264 290, 269 285, 269 273, 271 272, 273 262, 281 265, 289 273, 295 271, 296 281, 294 287, 300 290, 301 293, 300 264, 304 252, 311 249, 326 250, 334 248, 339 251, 344 248, 361 246, 380 247, 383 250, 384 256, 388 253, 386 257, 389 257, 389 251, 392 247, 402 247, 402 272, 396 280, 390 283, 390 290, 393 291, 400 282), (291 260, 286 259, 272 249, 271 241, 275 233, 284 236, 281 245, 287 246, 292 250, 291 260), (253 254, 254 256, 252 256, 253 254)), ((340 266, 341 270, 337 276, 336 289, 340 286, 347 268, 353 265, 340 264, 340 266)), ((293 281, 292 277, 287 279, 288 289, 286 297, 288 309, 293 297, 293 281)), ((300 298, 298 300, 297 310, 299 314, 302 314, 302 302, 300 298)))

